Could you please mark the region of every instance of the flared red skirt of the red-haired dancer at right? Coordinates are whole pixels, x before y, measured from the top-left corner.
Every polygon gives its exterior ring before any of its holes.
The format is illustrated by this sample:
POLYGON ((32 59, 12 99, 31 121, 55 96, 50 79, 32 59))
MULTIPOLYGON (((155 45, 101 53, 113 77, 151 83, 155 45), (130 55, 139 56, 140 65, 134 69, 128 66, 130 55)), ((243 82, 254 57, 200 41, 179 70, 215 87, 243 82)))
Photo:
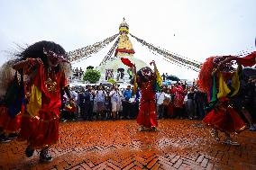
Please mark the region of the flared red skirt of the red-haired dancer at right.
POLYGON ((225 111, 213 110, 212 112, 209 112, 203 121, 216 130, 221 130, 228 133, 238 133, 245 129, 245 123, 231 106, 228 106, 225 111))

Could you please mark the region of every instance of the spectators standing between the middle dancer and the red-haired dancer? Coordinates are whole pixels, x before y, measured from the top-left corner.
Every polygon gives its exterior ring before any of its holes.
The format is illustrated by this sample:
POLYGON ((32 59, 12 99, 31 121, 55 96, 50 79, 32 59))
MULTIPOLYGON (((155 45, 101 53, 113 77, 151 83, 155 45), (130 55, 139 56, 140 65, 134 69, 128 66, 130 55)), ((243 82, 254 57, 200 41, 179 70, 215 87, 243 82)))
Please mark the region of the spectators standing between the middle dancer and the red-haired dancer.
POLYGON ((196 85, 188 86, 183 83, 164 86, 157 102, 160 118, 189 120, 203 120, 206 103, 206 93, 199 91, 196 85))

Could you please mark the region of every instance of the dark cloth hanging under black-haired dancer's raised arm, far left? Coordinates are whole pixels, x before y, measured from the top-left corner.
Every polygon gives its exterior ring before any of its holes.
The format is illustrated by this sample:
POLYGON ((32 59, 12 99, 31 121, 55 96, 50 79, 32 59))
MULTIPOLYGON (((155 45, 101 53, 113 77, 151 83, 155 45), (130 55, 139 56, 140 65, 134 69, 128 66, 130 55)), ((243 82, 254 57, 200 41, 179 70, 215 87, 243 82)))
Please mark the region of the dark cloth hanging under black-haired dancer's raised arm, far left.
POLYGON ((15 72, 14 80, 7 88, 5 94, 5 103, 8 108, 9 115, 14 118, 22 111, 22 106, 25 101, 23 73, 21 74, 21 82, 19 83, 17 71, 15 72))

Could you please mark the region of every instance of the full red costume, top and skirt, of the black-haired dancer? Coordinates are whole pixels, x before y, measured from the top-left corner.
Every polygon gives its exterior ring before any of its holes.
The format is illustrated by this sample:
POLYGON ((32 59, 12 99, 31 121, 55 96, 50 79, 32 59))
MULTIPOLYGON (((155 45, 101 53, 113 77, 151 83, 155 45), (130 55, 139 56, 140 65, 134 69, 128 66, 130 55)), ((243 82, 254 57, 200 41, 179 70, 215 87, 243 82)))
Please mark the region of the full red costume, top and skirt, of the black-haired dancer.
POLYGON ((41 148, 59 140, 60 89, 68 85, 68 81, 61 71, 52 69, 47 74, 40 63, 27 87, 27 94, 31 94, 32 85, 41 91, 41 108, 37 115, 24 112, 20 138, 27 139, 32 148, 41 148))

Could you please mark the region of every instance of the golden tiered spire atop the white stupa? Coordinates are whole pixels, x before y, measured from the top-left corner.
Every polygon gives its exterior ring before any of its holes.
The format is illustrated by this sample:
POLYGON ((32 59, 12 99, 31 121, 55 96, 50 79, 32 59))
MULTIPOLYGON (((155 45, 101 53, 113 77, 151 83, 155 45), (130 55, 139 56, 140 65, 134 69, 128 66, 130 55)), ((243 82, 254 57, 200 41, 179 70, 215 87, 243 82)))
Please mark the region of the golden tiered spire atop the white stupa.
POLYGON ((127 35, 128 33, 129 33, 129 25, 125 22, 125 19, 123 18, 123 22, 119 26, 120 40, 118 42, 117 48, 115 49, 114 56, 133 57, 133 54, 135 53, 135 51, 133 49, 133 44, 131 40, 129 40, 129 37, 127 35))

